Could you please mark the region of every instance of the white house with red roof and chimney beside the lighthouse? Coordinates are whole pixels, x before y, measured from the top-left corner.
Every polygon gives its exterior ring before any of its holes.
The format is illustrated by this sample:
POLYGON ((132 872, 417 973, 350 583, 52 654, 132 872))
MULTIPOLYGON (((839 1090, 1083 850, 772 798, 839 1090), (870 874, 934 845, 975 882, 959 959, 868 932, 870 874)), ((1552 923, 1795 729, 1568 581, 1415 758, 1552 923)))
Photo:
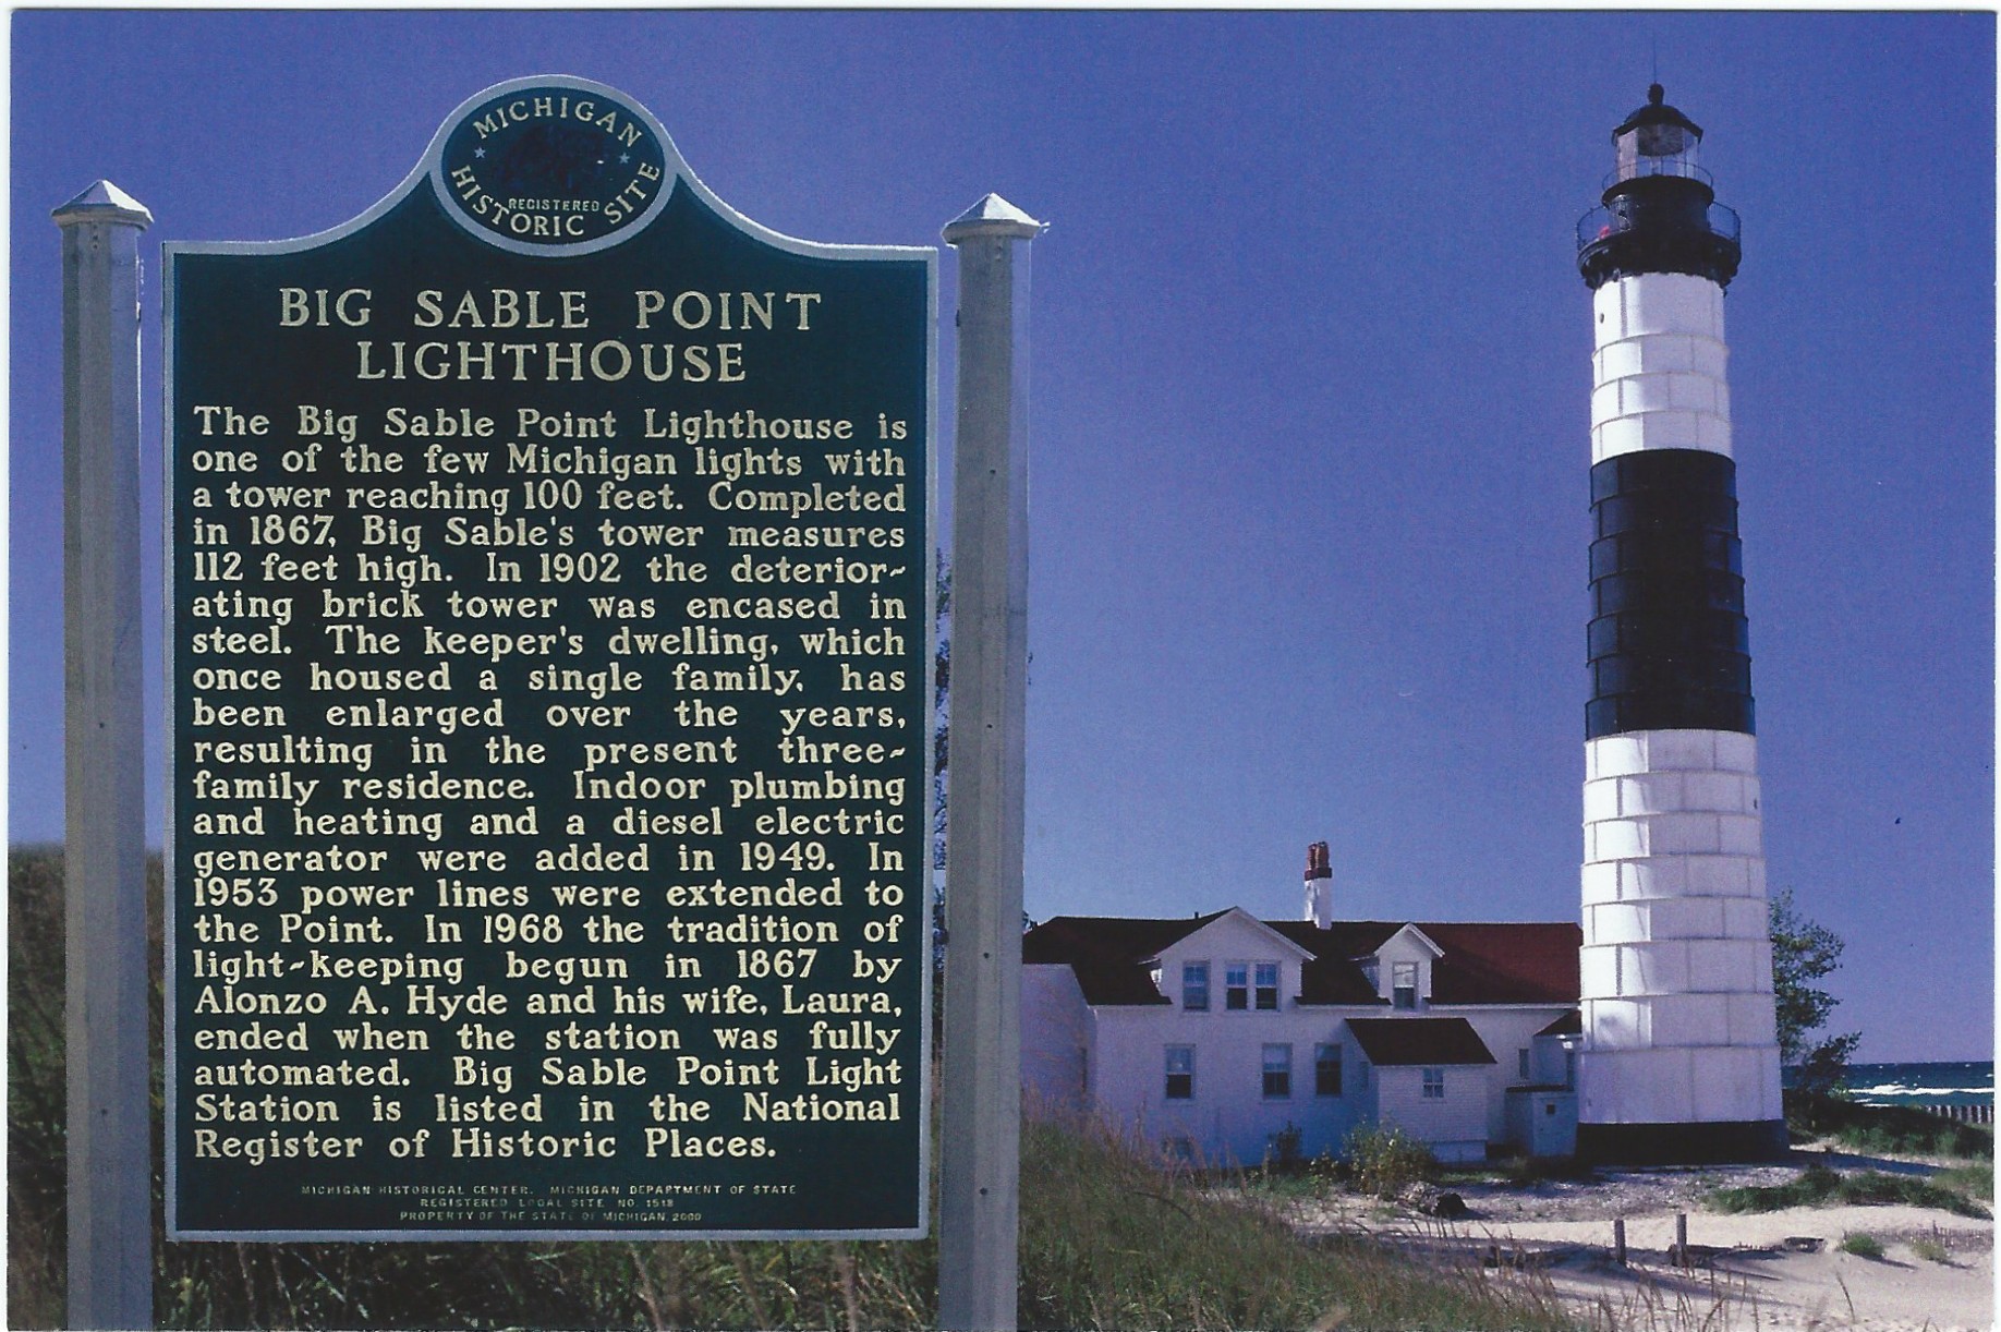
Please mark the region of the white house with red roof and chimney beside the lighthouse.
POLYGON ((1023 936, 1023 1084, 1165 1152, 1341 1154, 1395 1124, 1441 1160, 1569 1156, 1579 926, 1337 920, 1327 842, 1305 920, 1057 916, 1023 936))

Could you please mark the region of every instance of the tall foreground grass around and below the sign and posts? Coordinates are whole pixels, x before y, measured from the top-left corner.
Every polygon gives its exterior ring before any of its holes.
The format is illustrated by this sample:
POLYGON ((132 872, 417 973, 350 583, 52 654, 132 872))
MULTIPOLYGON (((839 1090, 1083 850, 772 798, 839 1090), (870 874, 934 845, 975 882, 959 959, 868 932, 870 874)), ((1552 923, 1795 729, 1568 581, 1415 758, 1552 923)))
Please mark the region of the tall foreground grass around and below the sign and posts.
MULTIPOLYGON (((152 868, 158 904, 158 864, 152 868)), ((62 856, 8 862, 8 1326, 64 1322, 62 856)), ((160 960, 154 910, 154 966, 160 960)), ((158 1078, 158 974, 154 976, 158 1078)), ((154 1088, 158 1116, 158 1086, 154 1088)), ((158 1118, 154 1162, 158 1164, 158 1118)), ((1117 1136, 1023 1132, 1025 1328, 1559 1328, 1547 1286, 1309 1244, 1117 1136)), ((164 1328, 924 1328, 920 1242, 166 1244, 164 1328)))

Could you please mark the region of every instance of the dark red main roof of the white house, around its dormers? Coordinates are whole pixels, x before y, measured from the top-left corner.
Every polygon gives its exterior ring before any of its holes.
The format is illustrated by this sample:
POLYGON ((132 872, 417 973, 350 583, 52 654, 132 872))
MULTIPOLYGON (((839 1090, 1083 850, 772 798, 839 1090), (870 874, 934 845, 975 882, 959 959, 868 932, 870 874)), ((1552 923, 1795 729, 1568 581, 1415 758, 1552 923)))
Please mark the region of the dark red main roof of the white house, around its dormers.
MULTIPOLYGON (((1223 914, 1181 920, 1055 916, 1023 936, 1021 958, 1029 964, 1069 964, 1091 1006, 1169 1004, 1173 1000, 1149 976, 1153 958, 1223 914)), ((1407 924, 1443 950, 1431 968, 1433 1004, 1575 1004, 1579 998, 1577 948, 1583 930, 1567 920, 1337 920, 1325 930, 1311 920, 1265 922, 1313 954, 1301 968, 1301 1004, 1385 1002, 1361 962, 1407 924)))

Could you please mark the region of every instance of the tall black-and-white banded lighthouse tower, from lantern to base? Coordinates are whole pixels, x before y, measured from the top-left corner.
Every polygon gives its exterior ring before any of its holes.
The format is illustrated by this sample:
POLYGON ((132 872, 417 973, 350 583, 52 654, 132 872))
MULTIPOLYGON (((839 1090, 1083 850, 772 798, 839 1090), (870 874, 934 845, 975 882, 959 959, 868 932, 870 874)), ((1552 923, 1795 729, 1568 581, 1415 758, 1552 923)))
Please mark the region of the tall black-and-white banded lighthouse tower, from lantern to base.
POLYGON ((1725 384, 1737 214, 1659 84, 1577 226, 1593 292, 1577 1150, 1785 1152, 1725 384))

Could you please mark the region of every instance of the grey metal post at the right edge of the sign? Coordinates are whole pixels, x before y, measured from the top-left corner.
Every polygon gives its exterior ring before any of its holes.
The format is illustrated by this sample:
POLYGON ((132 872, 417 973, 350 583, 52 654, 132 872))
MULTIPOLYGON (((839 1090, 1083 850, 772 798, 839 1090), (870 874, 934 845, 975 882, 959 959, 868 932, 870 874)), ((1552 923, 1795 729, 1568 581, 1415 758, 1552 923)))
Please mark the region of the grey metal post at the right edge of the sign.
POLYGON ((938 1326, 1015 1326, 1021 1180, 1021 842, 1029 712, 1029 250, 998 194, 958 248, 952 734, 938 1326))

